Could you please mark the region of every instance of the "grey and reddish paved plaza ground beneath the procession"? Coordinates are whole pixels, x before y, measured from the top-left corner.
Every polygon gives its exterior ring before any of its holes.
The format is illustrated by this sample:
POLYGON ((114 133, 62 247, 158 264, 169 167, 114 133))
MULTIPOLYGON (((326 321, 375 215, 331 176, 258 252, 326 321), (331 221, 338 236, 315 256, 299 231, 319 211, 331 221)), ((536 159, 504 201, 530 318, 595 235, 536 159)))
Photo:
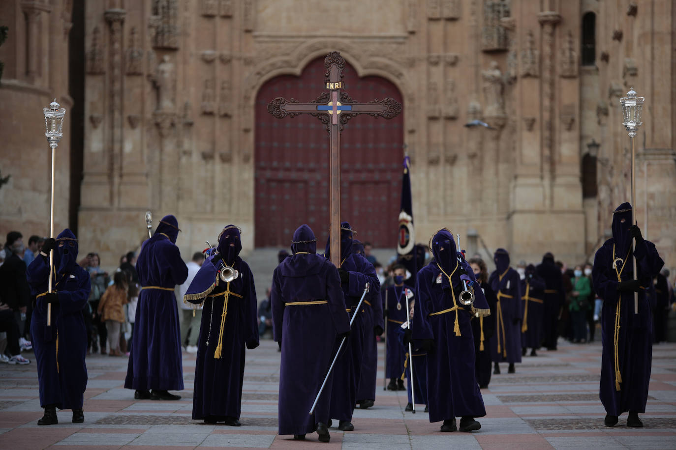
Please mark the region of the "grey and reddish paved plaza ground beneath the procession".
MULTIPOLYGON (((126 358, 89 356, 84 393, 84 424, 72 424, 70 410, 59 424, 37 426, 39 405, 36 364, 0 364, 0 449, 676 449, 676 344, 654 347, 650 397, 643 429, 603 425, 598 400, 600 343, 561 342, 558 351, 525 356, 516 374, 493 375, 483 391, 487 416, 473 433, 441 433, 427 414, 404 412, 406 392, 383 391, 379 379, 375 406, 355 410, 354 432, 331 428, 331 443, 316 434, 293 441, 277 436, 279 353, 272 341, 247 351, 241 428, 208 425, 191 419, 195 356, 183 354, 185 391, 179 401, 134 399, 123 389, 126 358)), ((379 373, 383 345, 379 345, 379 373)), ((32 358, 31 354, 27 354, 32 358)), ((422 408, 421 408, 422 409, 422 408)))

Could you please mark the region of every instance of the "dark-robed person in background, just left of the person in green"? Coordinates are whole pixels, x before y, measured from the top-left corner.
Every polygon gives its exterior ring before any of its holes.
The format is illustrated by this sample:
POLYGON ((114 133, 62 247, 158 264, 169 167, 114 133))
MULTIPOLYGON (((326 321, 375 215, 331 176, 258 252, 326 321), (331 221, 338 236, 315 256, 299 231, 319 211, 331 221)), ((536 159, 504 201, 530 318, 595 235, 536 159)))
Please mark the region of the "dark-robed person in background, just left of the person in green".
POLYGON ((561 269, 554 264, 553 257, 550 258, 546 255, 542 258, 542 262, 537 264, 535 273, 545 282, 545 291, 542 295, 542 300, 545 301, 542 312, 542 345, 548 348, 556 348, 558 316, 566 298, 561 269))

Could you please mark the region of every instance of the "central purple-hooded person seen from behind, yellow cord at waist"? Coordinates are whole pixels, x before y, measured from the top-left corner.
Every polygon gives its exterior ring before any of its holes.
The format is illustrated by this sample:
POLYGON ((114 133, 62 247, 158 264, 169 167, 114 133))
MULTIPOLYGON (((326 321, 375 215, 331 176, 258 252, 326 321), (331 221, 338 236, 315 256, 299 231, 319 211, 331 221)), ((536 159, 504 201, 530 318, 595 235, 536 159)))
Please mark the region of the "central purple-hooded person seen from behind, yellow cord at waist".
POLYGON ((292 256, 272 276, 272 331, 281 343, 279 434, 307 434, 328 424, 333 373, 308 412, 327 374, 337 335, 349 331, 338 270, 316 254, 308 225, 293 233, 292 256))

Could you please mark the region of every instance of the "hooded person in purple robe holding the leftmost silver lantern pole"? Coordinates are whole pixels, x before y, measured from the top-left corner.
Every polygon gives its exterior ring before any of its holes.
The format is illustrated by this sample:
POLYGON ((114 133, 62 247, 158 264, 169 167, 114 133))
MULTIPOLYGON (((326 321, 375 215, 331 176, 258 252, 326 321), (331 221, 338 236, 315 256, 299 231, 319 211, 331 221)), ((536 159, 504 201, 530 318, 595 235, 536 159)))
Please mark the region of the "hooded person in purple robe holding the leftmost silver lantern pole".
POLYGON ((31 293, 37 297, 30 319, 30 339, 37 362, 40 405, 81 409, 87 388, 87 329, 82 309, 89 298, 90 277, 76 263, 78 244, 70 229, 57 236, 56 244, 53 289, 59 304, 51 306, 50 327, 47 304, 41 296, 49 287, 49 256, 37 256, 26 269, 31 293))

